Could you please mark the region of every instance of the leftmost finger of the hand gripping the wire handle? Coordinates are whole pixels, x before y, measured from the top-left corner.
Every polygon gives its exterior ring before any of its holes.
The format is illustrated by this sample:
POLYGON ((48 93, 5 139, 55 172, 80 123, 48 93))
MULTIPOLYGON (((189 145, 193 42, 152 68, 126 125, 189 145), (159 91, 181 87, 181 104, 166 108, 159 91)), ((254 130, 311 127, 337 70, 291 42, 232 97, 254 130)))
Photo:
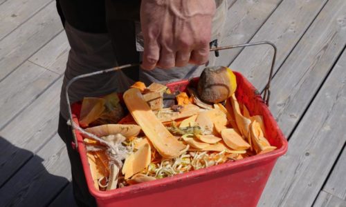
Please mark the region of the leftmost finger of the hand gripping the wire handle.
POLYGON ((156 41, 151 41, 144 48, 143 63, 141 67, 145 70, 153 70, 160 57, 160 46, 156 41))

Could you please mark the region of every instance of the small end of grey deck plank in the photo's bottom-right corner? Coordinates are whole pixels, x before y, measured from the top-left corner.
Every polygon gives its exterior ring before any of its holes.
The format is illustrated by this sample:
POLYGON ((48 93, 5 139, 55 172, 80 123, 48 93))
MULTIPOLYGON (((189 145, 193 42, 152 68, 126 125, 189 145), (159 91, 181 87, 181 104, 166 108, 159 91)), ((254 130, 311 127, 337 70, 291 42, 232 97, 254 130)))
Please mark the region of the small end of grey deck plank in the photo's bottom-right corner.
MULTIPOLYGON (((345 175, 343 175, 345 177, 345 175)), ((345 207, 346 201, 325 191, 321 191, 313 207, 345 207)))

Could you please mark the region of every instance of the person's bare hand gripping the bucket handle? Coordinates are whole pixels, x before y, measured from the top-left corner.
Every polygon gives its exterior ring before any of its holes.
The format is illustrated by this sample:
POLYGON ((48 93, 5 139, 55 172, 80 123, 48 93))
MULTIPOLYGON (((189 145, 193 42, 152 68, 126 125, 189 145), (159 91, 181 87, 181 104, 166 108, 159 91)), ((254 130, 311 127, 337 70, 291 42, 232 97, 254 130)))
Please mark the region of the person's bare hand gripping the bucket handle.
POLYGON ((142 0, 142 68, 206 63, 214 14, 215 0, 142 0))

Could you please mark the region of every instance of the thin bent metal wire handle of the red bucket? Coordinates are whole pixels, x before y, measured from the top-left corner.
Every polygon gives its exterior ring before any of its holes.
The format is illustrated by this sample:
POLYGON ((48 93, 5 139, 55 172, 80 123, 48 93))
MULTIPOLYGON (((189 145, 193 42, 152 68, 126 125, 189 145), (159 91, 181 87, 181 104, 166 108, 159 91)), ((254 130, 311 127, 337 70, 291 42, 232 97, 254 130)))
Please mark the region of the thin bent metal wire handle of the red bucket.
MULTIPOLYGON (((210 51, 218 52, 219 50, 228 50, 228 49, 233 49, 233 48, 244 48, 244 47, 248 47, 248 46, 258 46, 258 45, 269 45, 274 50, 273 59, 271 61, 271 70, 269 72, 268 82, 266 83, 266 87, 264 88, 264 95, 263 95, 263 99, 264 99, 266 105, 269 106, 269 99, 271 97, 271 90, 270 90, 271 79, 273 77, 273 71, 274 71, 275 59, 276 59, 276 53, 277 53, 277 48, 276 48, 274 43, 272 43, 270 41, 258 41, 258 42, 244 43, 244 44, 239 44, 239 45, 234 45, 234 46, 224 46, 224 47, 210 48, 210 51)), ((108 73, 108 72, 113 72, 113 71, 117 71, 117 70, 122 70, 122 69, 125 69, 125 68, 132 68, 134 66, 139 66, 139 65, 140 65, 140 63, 133 63, 133 64, 127 64, 127 65, 123 65, 123 66, 117 66, 117 67, 114 67, 114 68, 109 68, 109 69, 106 69, 106 70, 99 70, 99 71, 96 71, 96 72, 90 72, 90 73, 86 73, 86 74, 83 74, 83 75, 78 75, 76 77, 73 77, 73 79, 71 79, 67 83, 66 88, 65 88, 65 95, 66 95, 67 106, 68 106, 68 109, 69 109, 69 117, 70 117, 69 121, 70 121, 71 128, 72 128, 73 143, 75 144, 75 148, 78 148, 78 142, 77 142, 77 137, 75 136, 75 123, 73 122, 71 103, 70 103, 70 99, 69 99, 69 88, 70 88, 71 84, 74 83, 75 81, 77 81, 78 79, 83 79, 83 78, 86 78, 86 77, 100 75, 100 74, 104 74, 104 73, 108 73)))

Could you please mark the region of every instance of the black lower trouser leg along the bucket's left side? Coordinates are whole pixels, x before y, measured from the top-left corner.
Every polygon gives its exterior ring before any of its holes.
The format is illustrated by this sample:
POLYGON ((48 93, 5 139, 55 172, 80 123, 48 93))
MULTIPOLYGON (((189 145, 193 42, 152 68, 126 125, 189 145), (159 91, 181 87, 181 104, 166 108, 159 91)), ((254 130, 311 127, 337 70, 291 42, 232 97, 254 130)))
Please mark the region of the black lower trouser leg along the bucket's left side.
POLYGON ((95 199, 89 193, 88 186, 86 185, 80 154, 77 150, 73 149, 71 145, 73 141, 71 127, 66 123, 66 119, 60 115, 57 132, 65 142, 67 153, 69 155, 72 172, 73 196, 75 197, 78 206, 96 206, 95 199))

